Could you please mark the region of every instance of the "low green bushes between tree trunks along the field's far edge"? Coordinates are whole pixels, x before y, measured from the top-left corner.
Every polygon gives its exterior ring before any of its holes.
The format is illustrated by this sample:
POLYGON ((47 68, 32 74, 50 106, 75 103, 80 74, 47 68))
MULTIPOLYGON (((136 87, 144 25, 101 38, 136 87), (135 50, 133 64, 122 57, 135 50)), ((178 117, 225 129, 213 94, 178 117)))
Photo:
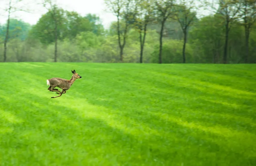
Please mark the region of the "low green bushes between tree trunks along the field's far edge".
MULTIPOLYGON (((230 63, 240 63, 244 50, 244 30, 234 26, 230 31, 230 63)), ((189 33, 186 47, 187 63, 221 63, 223 56, 224 29, 217 17, 205 17, 189 33), (209 26, 206 26, 209 25, 209 26), (215 57, 215 61, 213 58, 215 57)), ((144 47, 144 63, 158 63, 159 34, 148 29, 144 47)), ((250 62, 255 62, 255 31, 250 37, 250 62)), ((3 45, 1 45, 3 46, 3 45)), ((96 35, 91 31, 81 32, 73 40, 58 41, 58 60, 61 62, 119 62, 117 35, 96 35)), ((163 63, 182 63, 182 40, 164 39, 163 63)), ((1 48, 0 48, 1 50, 1 48)), ((38 39, 10 41, 8 61, 52 62, 54 43, 44 46, 38 39), (18 48, 18 49, 17 49, 18 48), (17 52, 19 50, 19 52, 17 52)), ((140 40, 136 29, 128 32, 123 62, 139 63, 140 40)))

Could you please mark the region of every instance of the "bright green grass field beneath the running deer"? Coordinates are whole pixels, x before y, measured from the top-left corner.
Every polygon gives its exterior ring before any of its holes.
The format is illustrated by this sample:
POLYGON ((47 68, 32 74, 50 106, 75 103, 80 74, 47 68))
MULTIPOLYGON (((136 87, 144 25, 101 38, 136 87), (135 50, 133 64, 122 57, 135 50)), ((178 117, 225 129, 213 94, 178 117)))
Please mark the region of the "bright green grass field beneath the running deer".
POLYGON ((0 63, 2 166, 256 166, 256 65, 0 63), (66 94, 46 80, 82 76, 66 94))

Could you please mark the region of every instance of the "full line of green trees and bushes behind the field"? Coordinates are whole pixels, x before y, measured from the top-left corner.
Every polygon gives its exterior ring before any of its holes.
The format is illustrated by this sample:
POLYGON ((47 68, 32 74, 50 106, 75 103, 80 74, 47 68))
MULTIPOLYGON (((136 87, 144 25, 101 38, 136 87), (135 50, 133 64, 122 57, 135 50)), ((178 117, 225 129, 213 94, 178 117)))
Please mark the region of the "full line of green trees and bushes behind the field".
MULTIPOLYGON (((12 2, 12 0, 9 0, 12 2)), ((116 21, 53 0, 35 25, 0 25, 2 62, 256 63, 255 0, 105 0, 116 21), (211 11, 200 15, 198 11, 211 11)), ((17 8, 16 8, 17 10, 17 8)))

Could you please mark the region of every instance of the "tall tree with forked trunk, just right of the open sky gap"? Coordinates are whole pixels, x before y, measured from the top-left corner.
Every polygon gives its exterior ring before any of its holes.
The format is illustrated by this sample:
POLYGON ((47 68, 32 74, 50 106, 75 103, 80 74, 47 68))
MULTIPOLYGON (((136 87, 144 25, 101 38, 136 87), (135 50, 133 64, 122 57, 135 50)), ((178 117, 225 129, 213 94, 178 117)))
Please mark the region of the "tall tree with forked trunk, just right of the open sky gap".
POLYGON ((120 49, 119 56, 120 61, 123 62, 123 50, 127 39, 128 28, 134 22, 135 16, 137 14, 137 0, 105 0, 105 4, 109 10, 117 17, 116 28, 120 49))

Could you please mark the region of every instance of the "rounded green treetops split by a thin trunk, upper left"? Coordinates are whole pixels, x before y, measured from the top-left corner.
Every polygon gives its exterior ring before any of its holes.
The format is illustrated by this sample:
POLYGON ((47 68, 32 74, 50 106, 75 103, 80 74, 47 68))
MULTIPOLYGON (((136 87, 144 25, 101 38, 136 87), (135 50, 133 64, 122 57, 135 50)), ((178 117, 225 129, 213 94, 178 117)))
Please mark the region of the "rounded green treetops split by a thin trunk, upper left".
MULTIPOLYGON (((94 34, 102 35, 104 30, 99 24, 99 17, 87 15, 82 17, 75 11, 64 11, 56 9, 56 19, 58 23, 58 39, 68 38, 73 40, 78 34, 85 31, 92 31, 94 34)), ((38 38, 41 43, 50 44, 55 41, 55 17, 52 11, 44 14, 31 31, 32 38, 38 38)))

